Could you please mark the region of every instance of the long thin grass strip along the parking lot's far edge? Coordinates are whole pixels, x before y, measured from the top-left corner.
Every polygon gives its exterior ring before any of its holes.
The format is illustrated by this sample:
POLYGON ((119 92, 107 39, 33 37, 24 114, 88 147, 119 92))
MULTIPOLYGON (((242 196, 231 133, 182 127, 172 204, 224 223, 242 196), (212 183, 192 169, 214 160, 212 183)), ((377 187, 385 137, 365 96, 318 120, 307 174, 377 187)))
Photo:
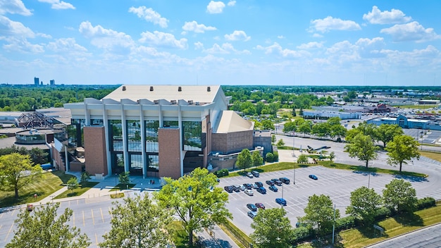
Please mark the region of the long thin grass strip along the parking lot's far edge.
MULTIPOLYGON (((351 166, 343 163, 330 163, 330 161, 318 161, 318 163, 293 163, 293 162, 280 162, 280 163, 272 163, 268 164, 266 166, 259 166, 258 168, 253 168, 253 171, 259 171, 259 173, 263 172, 270 172, 270 171, 282 171, 282 170, 290 170, 294 168, 306 168, 309 166, 316 166, 320 165, 326 168, 335 168, 340 170, 349 170, 349 171, 366 171, 366 172, 375 172, 375 173, 386 173, 391 175, 410 175, 410 176, 417 176, 417 177, 423 177, 426 178, 426 174, 422 173, 414 173, 409 171, 402 171, 402 173, 399 173, 399 171, 395 170, 388 170, 383 168, 366 168, 365 166, 351 166)), ((248 170, 250 171, 250 170, 248 170)), ((227 175, 226 177, 234 177, 237 175, 244 175, 244 171, 235 171, 227 175)))

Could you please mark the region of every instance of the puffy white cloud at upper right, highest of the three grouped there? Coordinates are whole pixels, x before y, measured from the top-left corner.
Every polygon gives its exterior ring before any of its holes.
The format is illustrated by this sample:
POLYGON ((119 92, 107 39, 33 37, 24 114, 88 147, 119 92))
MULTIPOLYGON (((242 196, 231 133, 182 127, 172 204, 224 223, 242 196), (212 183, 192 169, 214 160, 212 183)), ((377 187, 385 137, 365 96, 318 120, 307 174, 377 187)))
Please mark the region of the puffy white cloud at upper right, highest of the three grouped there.
POLYGON ((407 23, 412 20, 402 11, 392 8, 392 11, 380 11, 377 6, 372 7, 372 12, 363 15, 363 19, 372 24, 407 23))

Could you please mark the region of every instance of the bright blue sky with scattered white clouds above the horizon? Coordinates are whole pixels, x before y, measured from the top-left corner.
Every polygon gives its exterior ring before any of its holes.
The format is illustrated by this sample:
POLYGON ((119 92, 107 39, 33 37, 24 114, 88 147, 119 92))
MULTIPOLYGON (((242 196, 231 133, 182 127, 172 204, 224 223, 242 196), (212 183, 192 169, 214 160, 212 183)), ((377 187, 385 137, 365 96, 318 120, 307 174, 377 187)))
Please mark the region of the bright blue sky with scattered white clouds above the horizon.
POLYGON ((0 83, 441 86, 441 1, 0 0, 0 83))

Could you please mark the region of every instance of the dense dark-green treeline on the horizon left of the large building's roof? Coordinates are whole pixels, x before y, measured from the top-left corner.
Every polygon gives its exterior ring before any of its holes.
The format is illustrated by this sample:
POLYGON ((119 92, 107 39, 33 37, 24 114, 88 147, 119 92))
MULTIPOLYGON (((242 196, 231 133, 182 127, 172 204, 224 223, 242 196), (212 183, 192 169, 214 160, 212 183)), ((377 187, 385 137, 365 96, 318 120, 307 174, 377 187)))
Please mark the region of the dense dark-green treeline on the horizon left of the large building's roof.
POLYGON ((85 98, 101 99, 117 85, 0 85, 0 111, 34 111, 63 104, 81 102, 85 98))

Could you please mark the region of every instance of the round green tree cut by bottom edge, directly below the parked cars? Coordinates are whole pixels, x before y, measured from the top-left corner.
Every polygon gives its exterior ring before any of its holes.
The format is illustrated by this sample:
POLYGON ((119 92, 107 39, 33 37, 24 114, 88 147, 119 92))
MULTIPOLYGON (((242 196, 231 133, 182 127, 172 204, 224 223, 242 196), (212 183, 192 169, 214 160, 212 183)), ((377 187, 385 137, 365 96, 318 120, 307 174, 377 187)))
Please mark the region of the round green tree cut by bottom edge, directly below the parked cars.
POLYGON ((283 208, 259 209, 251 223, 251 240, 256 248, 291 247, 292 225, 283 208))

